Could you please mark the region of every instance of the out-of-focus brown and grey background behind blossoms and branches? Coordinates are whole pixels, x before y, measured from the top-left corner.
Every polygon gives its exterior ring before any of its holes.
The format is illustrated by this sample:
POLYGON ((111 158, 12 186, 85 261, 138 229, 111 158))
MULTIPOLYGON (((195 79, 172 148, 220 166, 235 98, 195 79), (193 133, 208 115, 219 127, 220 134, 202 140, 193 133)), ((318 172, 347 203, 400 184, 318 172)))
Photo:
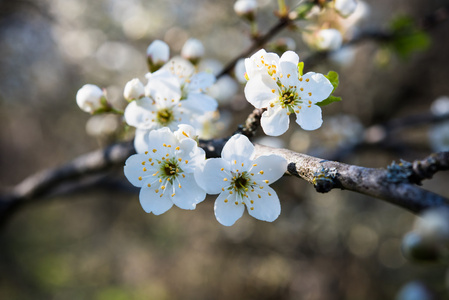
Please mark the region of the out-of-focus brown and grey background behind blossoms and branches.
MULTIPOLYGON (((266 32, 276 23, 277 1, 258 3, 259 29, 266 32)), ((366 3, 360 30, 386 30, 399 15, 421 20, 448 1, 366 3)), ((250 28, 233 4, 0 1, 2 190, 117 138, 130 139, 131 129, 116 130, 117 117, 92 121, 75 95, 93 83, 124 108, 123 87, 144 78, 145 51, 154 39, 167 42, 172 55, 188 38, 200 39, 205 60, 218 69, 249 47, 250 28)), ((374 125, 430 113, 435 99, 449 95, 448 33, 449 22, 439 24, 428 33, 428 48, 408 59, 366 40, 351 48, 349 60, 314 60, 306 71, 340 74, 336 94, 343 101, 323 108, 319 130, 290 126, 281 139, 259 141, 383 168, 447 151, 447 124, 393 132, 374 125)), ((300 58, 312 55, 301 33, 284 30, 273 41, 279 37, 291 38, 300 58)), ((236 93, 220 100, 221 136, 252 111, 243 86, 233 86, 236 93)), ((109 184, 24 206, 0 228, 1 299, 393 299, 412 280, 447 295, 447 266, 412 264, 401 254, 415 216, 382 200, 340 190, 318 194, 300 179, 283 178, 274 184, 282 205, 278 220, 245 214, 226 228, 215 220, 214 197, 195 211, 174 207, 154 216, 141 209, 122 166, 108 175, 109 184)), ((449 197, 448 180, 439 173, 424 187, 449 197)))

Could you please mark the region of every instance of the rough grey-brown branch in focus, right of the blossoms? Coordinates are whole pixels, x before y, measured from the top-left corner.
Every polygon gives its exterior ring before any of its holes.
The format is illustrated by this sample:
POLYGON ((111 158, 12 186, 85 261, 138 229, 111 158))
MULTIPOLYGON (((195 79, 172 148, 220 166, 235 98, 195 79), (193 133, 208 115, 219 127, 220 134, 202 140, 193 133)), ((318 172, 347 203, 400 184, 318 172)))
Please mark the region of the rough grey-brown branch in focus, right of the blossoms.
MULTIPOLYGON (((289 162, 288 173, 314 184, 318 192, 325 193, 333 188, 346 189, 383 199, 414 213, 429 207, 449 205, 449 199, 421 189, 410 182, 391 180, 387 169, 364 168, 327 161, 287 149, 273 149, 262 145, 256 146, 256 152, 258 156, 277 154, 284 157, 289 162)), ((448 169, 449 152, 440 152, 430 157, 433 161, 437 161, 432 163, 434 167, 429 167, 433 173, 437 169, 448 169)), ((427 159, 423 161, 426 162, 427 159)), ((420 163, 417 162, 416 165, 420 163)))

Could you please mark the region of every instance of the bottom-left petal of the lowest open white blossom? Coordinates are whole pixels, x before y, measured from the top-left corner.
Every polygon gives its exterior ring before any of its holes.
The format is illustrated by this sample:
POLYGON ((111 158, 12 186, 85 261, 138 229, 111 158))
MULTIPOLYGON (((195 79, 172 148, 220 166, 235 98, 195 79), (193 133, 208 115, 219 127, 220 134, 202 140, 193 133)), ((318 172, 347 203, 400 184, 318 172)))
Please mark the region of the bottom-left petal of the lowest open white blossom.
POLYGON ((245 210, 245 206, 241 203, 235 204, 236 194, 229 194, 228 192, 221 193, 217 200, 215 200, 215 217, 217 221, 224 226, 231 226, 240 219, 245 210), (225 202, 227 200, 227 202, 225 202))

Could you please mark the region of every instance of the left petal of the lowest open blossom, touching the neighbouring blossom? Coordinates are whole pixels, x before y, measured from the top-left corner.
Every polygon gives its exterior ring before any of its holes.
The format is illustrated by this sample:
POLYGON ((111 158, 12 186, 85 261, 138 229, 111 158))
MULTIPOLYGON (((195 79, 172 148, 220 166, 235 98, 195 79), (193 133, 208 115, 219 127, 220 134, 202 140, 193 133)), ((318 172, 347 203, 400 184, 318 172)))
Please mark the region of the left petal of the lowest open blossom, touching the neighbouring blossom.
POLYGON ((210 158, 204 165, 195 169, 194 175, 197 184, 206 191, 214 195, 221 193, 222 188, 230 185, 230 180, 224 181, 229 173, 229 163, 222 158, 210 158), (223 171, 221 169, 223 168, 223 171))

